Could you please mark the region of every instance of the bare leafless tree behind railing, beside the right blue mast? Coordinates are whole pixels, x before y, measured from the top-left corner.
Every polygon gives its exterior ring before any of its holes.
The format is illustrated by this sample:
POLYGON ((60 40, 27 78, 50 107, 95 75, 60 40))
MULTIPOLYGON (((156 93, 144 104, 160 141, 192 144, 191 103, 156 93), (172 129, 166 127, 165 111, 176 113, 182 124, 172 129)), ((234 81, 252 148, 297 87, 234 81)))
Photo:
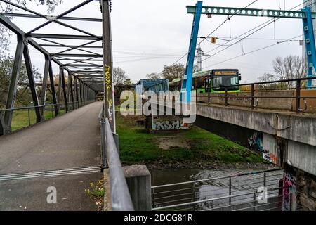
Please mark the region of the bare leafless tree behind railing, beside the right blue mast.
MULTIPOLYGON (((277 57, 273 60, 273 70, 277 79, 296 79, 305 77, 307 67, 305 59, 300 56, 277 57)), ((284 82, 284 87, 291 88, 295 82, 284 82)))

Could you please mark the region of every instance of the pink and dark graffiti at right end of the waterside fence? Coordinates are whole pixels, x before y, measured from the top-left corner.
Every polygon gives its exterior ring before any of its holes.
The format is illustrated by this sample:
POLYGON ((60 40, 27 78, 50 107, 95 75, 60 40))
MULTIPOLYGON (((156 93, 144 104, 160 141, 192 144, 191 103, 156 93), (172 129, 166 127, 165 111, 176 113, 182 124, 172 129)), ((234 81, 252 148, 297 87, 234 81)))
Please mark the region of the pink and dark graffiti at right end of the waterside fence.
POLYGON ((296 176, 284 172, 283 179, 283 211, 296 210, 296 176))

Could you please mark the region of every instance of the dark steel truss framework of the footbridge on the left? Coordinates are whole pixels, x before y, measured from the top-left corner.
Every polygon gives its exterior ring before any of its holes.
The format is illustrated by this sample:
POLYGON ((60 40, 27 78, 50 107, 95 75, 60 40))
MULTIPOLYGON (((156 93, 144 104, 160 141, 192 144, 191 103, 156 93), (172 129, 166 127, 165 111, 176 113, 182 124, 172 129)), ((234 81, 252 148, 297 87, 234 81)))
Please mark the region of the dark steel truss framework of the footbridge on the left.
MULTIPOLYGON (((11 110, 14 107, 15 95, 18 89, 18 75, 20 72, 20 67, 22 63, 22 57, 24 56, 25 65, 27 68, 27 77, 28 77, 28 85, 30 91, 32 93, 32 100, 34 103, 34 108, 37 116, 37 122, 41 122, 44 120, 44 107, 41 105, 45 105, 46 101, 46 92, 48 89, 48 78, 50 80, 50 92, 53 97, 53 103, 55 105, 55 115, 59 113, 59 105, 61 103, 61 97, 65 102, 65 109, 68 110, 68 104, 71 101, 74 105, 74 101, 87 101, 90 99, 94 99, 97 91, 103 91, 100 89, 100 86, 103 86, 103 79, 98 79, 97 77, 103 77, 103 70, 100 68, 103 65, 96 64, 96 61, 104 61, 105 58, 105 47, 104 44, 108 46, 106 41, 103 41, 104 37, 108 37, 108 34, 103 34, 103 36, 98 36, 96 34, 92 34, 86 30, 81 29, 81 27, 74 27, 73 25, 67 24, 64 20, 75 20, 75 21, 84 21, 84 22, 93 22, 93 23, 102 23, 104 28, 104 11, 105 7, 110 7, 107 0, 101 0, 100 5, 102 6, 103 11, 101 14, 102 18, 84 18, 84 17, 71 17, 67 16, 67 14, 76 11, 78 8, 82 6, 86 6, 93 2, 94 0, 86 0, 81 2, 81 4, 77 4, 76 6, 70 8, 69 10, 61 13, 60 15, 52 16, 52 15, 43 15, 36 11, 32 11, 24 6, 20 6, 19 4, 15 4, 11 1, 0 0, 0 2, 4 4, 9 4, 13 8, 18 8, 19 10, 26 11, 26 13, 0 13, 0 23, 6 26, 9 30, 14 32, 18 38, 18 45, 16 47, 15 56, 14 56, 14 64, 11 75, 11 82, 8 90, 8 96, 6 98, 6 111, 1 115, 0 113, 0 135, 11 133, 11 121, 13 117, 13 111, 11 110), (45 23, 34 27, 34 29, 25 32, 21 30, 17 25, 15 25, 9 18, 20 17, 20 18, 41 18, 46 19, 45 23), (45 27, 48 24, 55 23, 64 27, 67 27, 69 30, 74 30, 76 32, 81 32, 80 35, 74 34, 46 34, 41 33, 39 30, 45 27), (37 31, 37 32, 36 32, 37 31), (34 33, 36 32, 36 33, 34 33), (58 40, 54 40, 58 39, 58 40), (39 41, 46 41, 49 44, 42 44, 39 41), (79 41, 87 41, 84 44, 65 44, 62 43, 63 40, 79 40, 79 41), (101 44, 101 41, 104 44, 101 44), (44 76, 41 82, 41 94, 38 96, 36 90, 36 83, 34 79, 34 74, 32 70, 31 57, 29 54, 28 45, 37 49, 40 53, 44 55, 45 65, 44 65, 44 76), (92 44, 92 45, 91 45, 92 44), (59 51, 57 53, 52 53, 46 50, 46 47, 54 47, 54 48, 66 48, 65 50, 59 51), (93 50, 90 50, 93 49, 93 50), (103 49, 103 53, 98 53, 94 50, 103 49), (79 53, 72 53, 73 50, 76 50, 79 53), (53 77, 53 68, 52 63, 56 63, 59 68, 59 83, 58 90, 55 90, 54 77, 53 77), (65 82, 65 72, 67 72, 68 82, 65 82), (89 75, 91 77, 80 77, 80 75, 89 75), (63 93, 63 95, 62 95, 63 93), (62 96, 61 96, 62 95, 62 96)), ((94 1, 96 2, 96 1, 94 1)), ((99 9, 99 7, 98 7, 99 9)), ((107 15, 110 18, 110 15, 107 15)), ((108 21, 110 22, 110 21, 108 21)), ((101 27, 100 27, 101 28, 101 27)), ((102 28, 101 28, 102 29, 102 28)), ((106 31, 106 30, 105 30, 106 31)), ((108 39, 107 39, 108 41, 108 39)), ((110 63, 110 71, 112 71, 112 51, 108 53, 108 56, 111 58, 110 63)), ((108 57, 107 57, 108 58, 108 57)), ((109 64, 109 63, 107 63, 109 64)))

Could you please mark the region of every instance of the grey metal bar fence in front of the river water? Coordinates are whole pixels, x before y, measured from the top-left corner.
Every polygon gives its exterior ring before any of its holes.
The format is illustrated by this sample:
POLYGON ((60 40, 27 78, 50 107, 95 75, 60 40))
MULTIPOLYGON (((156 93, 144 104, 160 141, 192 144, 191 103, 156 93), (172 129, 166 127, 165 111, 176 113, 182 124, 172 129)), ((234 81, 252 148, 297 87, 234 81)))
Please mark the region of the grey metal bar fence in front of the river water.
POLYGON ((152 210, 282 210, 282 177, 272 169, 152 186, 152 210), (267 201, 259 204, 263 188, 267 201))

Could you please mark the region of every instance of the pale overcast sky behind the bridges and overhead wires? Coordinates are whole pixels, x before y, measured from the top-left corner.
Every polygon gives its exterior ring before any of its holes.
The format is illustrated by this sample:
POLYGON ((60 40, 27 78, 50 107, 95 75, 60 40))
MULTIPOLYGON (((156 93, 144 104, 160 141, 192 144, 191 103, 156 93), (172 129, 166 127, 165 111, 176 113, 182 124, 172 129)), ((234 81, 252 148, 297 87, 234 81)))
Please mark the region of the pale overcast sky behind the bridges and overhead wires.
MULTIPOLYGON (((254 0, 205 0, 204 6, 231 6, 243 8, 254 0)), ((70 1, 64 0, 64 4, 58 6, 53 14, 66 11, 74 4, 80 3, 81 0, 70 1)), ((192 0, 113 0, 112 1, 112 40, 113 40, 113 60, 114 66, 119 66, 126 71, 133 82, 138 79, 145 78, 150 72, 161 72, 164 65, 170 65, 178 58, 187 53, 190 41, 190 32, 192 27, 192 16, 186 13, 185 6, 194 5, 196 1, 192 0)), ((293 8, 298 4, 302 4, 303 0, 286 0, 285 8, 293 8)), ((272 8, 284 9, 284 0, 258 0, 249 8, 272 8)), ((303 5, 295 8, 302 8, 303 5)), ((35 6, 29 4, 29 8, 46 13, 44 6, 35 6)), ((21 11, 20 11, 21 12, 21 11)), ((100 18, 100 7, 98 1, 94 1, 81 8, 79 11, 71 13, 73 16, 85 16, 100 18)), ((213 15, 207 18, 202 15, 199 36, 204 37, 213 31, 227 17, 224 15, 213 15)), ((230 39, 237 37, 261 23, 271 18, 242 17, 234 16, 230 19, 230 23, 226 22, 220 29, 216 30, 211 37, 222 37, 230 39), (230 28, 231 27, 231 28, 230 28)), ((39 25, 45 20, 18 18, 13 20, 18 23, 23 30, 30 30, 32 27, 39 25)), ((102 30, 100 23, 70 23, 71 25, 82 26, 85 29, 100 35, 102 30)), ((64 28, 58 25, 50 25, 39 32, 62 33, 64 28)), ((65 30, 66 32, 66 30, 65 30)), ((73 32, 72 32, 73 33, 73 32)), ((268 49, 257 51, 246 56, 220 63, 234 56, 249 52, 261 47, 275 44, 279 40, 290 39, 302 34, 302 22, 299 19, 280 19, 275 23, 268 25, 259 32, 251 35, 249 38, 263 38, 268 40, 245 39, 242 44, 236 44, 225 51, 216 54, 204 60, 203 67, 211 68, 237 68, 242 73, 243 82, 253 82, 258 76, 264 72, 272 72, 272 60, 276 56, 302 55, 302 47, 299 45, 298 37, 293 41, 277 44, 268 49), (242 51, 243 46, 243 51, 242 51), (217 65, 213 65, 219 63, 217 65)), ((79 42, 77 42, 79 44, 79 42)), ((72 44, 77 44, 72 43, 72 44)), ((217 44, 225 44, 225 41, 218 40, 217 44)), ((11 55, 15 51, 15 37, 11 44, 11 55)), ((216 48, 215 44, 209 41, 202 42, 202 49, 205 52, 216 48)), ((214 54, 225 46, 211 51, 214 54)), ((32 63, 41 71, 44 69, 44 56, 35 49, 31 50, 32 63)), ((185 64, 186 57, 179 63, 185 64)), ((54 72, 58 72, 58 68, 54 67, 54 72)))

